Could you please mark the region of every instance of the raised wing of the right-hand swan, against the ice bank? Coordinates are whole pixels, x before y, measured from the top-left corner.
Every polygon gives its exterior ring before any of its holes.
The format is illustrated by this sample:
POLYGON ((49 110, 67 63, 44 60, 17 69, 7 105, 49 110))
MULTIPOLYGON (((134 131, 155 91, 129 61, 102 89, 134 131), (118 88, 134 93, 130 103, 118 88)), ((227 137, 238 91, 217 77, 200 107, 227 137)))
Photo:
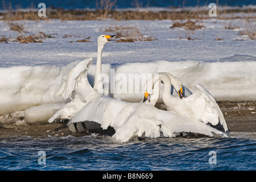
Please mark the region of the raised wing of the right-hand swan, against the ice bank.
POLYGON ((184 101, 192 110, 194 118, 212 125, 217 125, 220 119, 225 131, 228 130, 223 114, 214 97, 203 86, 196 84, 196 88, 195 93, 184 98, 184 101))

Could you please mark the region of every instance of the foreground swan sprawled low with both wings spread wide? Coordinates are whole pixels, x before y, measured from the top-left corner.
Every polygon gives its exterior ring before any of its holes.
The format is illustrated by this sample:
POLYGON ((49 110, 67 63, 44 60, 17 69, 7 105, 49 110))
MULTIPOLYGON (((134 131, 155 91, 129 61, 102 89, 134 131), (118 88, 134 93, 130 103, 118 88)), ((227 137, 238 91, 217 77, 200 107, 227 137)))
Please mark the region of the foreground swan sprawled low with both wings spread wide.
MULTIPOLYGON (((155 89, 151 98, 159 96, 159 89, 155 89)), ((73 115, 67 124, 69 130, 83 131, 82 123, 96 122, 106 130, 109 126, 115 129, 112 136, 117 142, 127 142, 135 136, 175 137, 175 133, 192 132, 213 136, 213 133, 224 135, 221 131, 198 122, 196 119, 185 117, 172 111, 164 111, 154 107, 157 100, 146 100, 136 103, 125 102, 109 96, 101 96, 93 100, 73 115), (76 124, 75 124, 76 123, 76 124), (75 126, 75 127, 74 127, 75 126)))

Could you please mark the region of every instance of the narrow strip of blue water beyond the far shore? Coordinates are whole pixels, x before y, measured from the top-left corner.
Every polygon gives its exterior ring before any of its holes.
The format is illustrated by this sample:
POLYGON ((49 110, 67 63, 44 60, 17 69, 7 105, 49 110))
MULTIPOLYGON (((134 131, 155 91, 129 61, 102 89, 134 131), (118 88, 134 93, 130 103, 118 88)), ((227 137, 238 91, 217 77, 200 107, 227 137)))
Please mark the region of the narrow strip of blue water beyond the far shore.
MULTIPOLYGON (((5 0, 5 6, 11 6, 15 8, 17 5, 22 8, 27 7, 37 7, 39 3, 45 3, 46 7, 61 7, 64 9, 86 9, 86 8, 97 8, 96 2, 98 1, 91 1, 91 0, 5 0)), ((176 1, 170 1, 170 0, 139 0, 139 3, 142 3, 142 7, 185 7, 187 6, 204 6, 209 5, 209 3, 216 3, 216 0, 211 1, 189 1, 189 0, 176 0, 176 1)), ((126 1, 126 0, 117 0, 117 3, 115 4, 115 7, 118 8, 128 8, 128 7, 134 7, 134 1, 126 1)), ((256 5, 255 0, 228 0, 228 1, 218 1, 218 5, 228 5, 228 6, 243 6, 243 5, 256 5)), ((0 3, 0 9, 2 9, 2 3, 0 3)))

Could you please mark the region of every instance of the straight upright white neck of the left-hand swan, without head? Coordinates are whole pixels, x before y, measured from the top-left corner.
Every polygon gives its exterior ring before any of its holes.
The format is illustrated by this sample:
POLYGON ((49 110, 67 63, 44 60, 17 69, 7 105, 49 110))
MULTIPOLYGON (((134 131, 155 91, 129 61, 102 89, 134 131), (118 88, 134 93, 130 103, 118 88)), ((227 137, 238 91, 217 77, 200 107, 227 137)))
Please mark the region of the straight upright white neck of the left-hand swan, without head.
POLYGON ((96 62, 96 72, 95 72, 95 78, 94 78, 94 86, 93 89, 101 89, 98 88, 98 86, 102 82, 101 77, 101 57, 102 57, 102 50, 104 48, 104 45, 98 44, 98 51, 97 51, 97 62, 96 62))

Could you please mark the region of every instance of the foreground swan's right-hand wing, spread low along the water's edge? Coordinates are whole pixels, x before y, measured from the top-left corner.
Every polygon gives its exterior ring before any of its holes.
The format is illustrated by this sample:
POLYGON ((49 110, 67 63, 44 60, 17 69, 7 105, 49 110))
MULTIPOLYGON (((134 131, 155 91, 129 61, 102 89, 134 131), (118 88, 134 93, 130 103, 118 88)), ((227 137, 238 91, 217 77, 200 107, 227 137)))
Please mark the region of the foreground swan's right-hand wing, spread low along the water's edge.
POLYGON ((134 136, 157 138, 160 131, 165 137, 174 137, 174 133, 191 132, 208 136, 212 133, 226 135, 196 119, 176 114, 172 111, 156 109, 154 106, 137 104, 126 122, 115 128, 113 137, 118 142, 127 142, 134 136))

